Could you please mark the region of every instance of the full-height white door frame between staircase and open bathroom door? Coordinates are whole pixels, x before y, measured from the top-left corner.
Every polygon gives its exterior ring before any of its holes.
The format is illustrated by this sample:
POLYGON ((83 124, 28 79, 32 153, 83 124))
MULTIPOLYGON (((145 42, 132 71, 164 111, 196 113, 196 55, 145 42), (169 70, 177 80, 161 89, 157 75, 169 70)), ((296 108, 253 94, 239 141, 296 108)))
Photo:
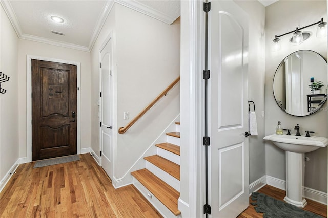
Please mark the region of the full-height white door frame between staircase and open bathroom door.
POLYGON ((186 217, 204 216, 204 14, 203 1, 181 1, 181 160, 187 160, 180 171, 188 172, 181 177, 188 188, 181 186, 178 208, 186 217))

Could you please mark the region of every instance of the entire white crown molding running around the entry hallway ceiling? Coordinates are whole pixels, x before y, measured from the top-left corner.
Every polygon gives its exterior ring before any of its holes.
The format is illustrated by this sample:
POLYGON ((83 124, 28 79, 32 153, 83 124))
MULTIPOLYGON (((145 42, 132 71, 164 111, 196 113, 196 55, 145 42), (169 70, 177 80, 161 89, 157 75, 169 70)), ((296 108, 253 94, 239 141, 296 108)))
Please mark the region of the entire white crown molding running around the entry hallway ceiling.
POLYGON ((99 35, 101 29, 103 28, 103 26, 106 22, 106 19, 115 3, 126 6, 128 8, 131 8, 135 11, 138 11, 142 14, 148 15, 154 19, 160 20, 163 23, 166 23, 169 25, 172 24, 176 20, 176 17, 168 16, 167 14, 161 13, 161 12, 159 12, 155 9, 152 9, 149 6, 146 6, 135 0, 108 0, 105 4, 103 10, 101 11, 101 14, 98 17, 97 23, 93 29, 92 36, 91 36, 91 39, 89 42, 89 46, 86 47, 86 46, 75 45, 73 43, 57 41, 57 40, 53 40, 53 39, 24 34, 10 2, 8 0, 0 0, 0 4, 4 8, 18 38, 41 42, 41 43, 47 43, 47 44, 54 45, 54 46, 76 49, 76 50, 80 50, 80 51, 86 51, 86 52, 90 52, 92 50, 94 43, 97 40, 98 35, 99 35))

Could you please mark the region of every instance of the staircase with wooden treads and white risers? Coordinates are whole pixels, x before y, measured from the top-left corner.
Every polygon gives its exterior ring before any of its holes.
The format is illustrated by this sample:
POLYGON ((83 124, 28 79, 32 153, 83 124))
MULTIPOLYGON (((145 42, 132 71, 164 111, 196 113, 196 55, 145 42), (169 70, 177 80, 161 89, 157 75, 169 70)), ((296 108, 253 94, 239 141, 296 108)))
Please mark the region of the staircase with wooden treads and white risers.
POLYGON ((146 168, 131 172, 133 185, 165 217, 180 216, 180 122, 167 142, 156 144, 157 154, 145 157, 146 168))

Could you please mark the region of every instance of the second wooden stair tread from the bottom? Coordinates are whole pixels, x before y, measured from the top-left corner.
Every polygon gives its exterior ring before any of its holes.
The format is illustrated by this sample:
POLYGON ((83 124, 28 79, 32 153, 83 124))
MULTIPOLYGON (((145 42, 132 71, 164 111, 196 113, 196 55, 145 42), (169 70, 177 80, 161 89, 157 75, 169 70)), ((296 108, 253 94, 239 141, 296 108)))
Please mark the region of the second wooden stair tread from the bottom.
POLYGON ((172 177, 180 181, 180 166, 168 159, 160 157, 159 155, 152 155, 144 158, 148 162, 154 164, 158 168, 166 171, 172 177))

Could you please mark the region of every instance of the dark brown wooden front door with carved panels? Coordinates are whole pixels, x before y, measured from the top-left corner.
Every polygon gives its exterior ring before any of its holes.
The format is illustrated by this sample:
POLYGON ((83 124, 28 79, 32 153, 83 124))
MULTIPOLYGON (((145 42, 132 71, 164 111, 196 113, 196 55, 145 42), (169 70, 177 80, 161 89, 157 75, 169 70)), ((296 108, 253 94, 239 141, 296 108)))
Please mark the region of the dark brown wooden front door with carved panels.
POLYGON ((32 60, 32 161, 76 154, 76 66, 32 60))

